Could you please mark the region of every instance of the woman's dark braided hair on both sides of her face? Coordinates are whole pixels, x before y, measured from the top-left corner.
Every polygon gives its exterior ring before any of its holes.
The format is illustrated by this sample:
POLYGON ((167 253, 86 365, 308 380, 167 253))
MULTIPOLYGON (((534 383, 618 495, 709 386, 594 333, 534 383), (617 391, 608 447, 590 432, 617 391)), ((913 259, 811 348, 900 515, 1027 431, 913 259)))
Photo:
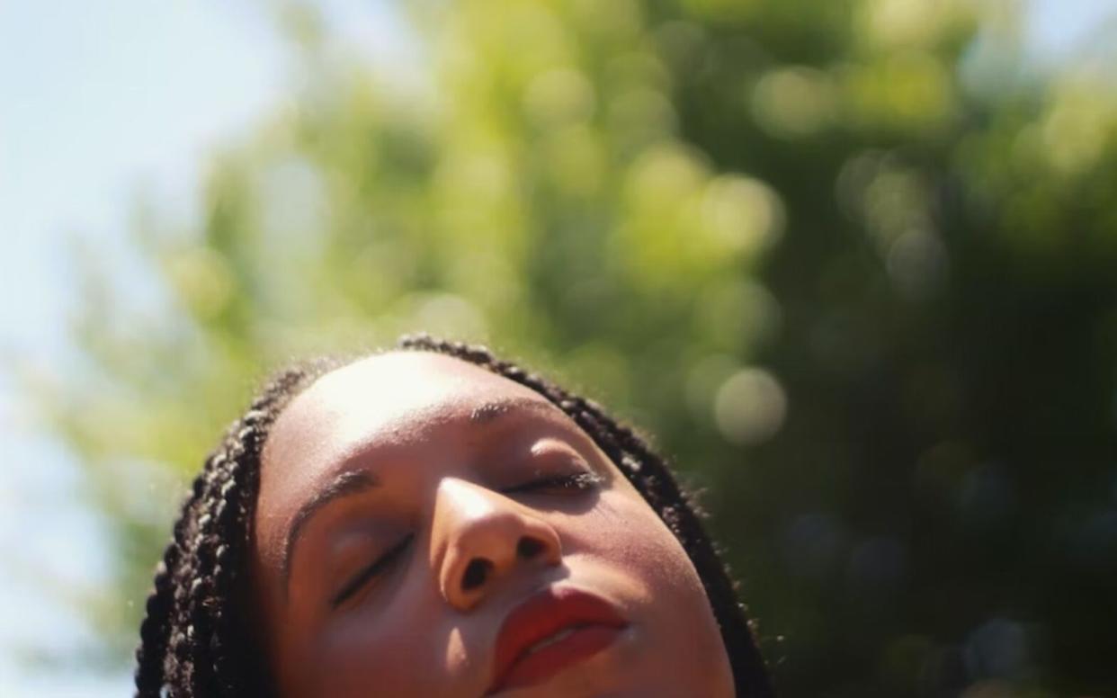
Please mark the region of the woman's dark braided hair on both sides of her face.
MULTIPOLYGON (((744 608, 697 508, 665 460, 630 428, 580 398, 487 348, 405 336, 401 350, 467 361, 540 393, 570 415, 613 460, 676 535, 701 579, 733 667, 737 696, 772 696, 763 658, 744 608)), ((244 597, 251 522, 259 489, 260 450, 284 407, 343 362, 316 360, 269 382, 206 459, 156 567, 140 627, 135 685, 140 698, 268 696, 275 691, 254 641, 244 597)))

